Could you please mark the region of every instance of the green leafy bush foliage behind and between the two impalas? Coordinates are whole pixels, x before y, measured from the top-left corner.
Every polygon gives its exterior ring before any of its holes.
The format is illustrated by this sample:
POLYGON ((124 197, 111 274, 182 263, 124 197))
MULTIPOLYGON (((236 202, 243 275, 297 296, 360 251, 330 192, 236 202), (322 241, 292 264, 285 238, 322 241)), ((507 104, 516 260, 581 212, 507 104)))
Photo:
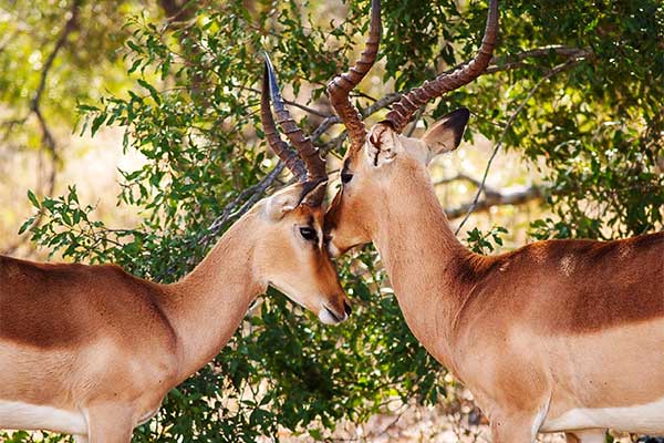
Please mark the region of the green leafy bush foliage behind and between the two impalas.
MULTIPOLYGON (((568 63, 537 89, 506 133, 506 145, 549 182, 554 216, 533 224, 537 238, 612 238, 662 226, 664 7, 605 3, 505 2, 496 72, 430 112, 469 106, 468 136, 497 140, 542 75, 568 63)), ((350 64, 366 30, 369 3, 351 1, 347 18, 333 22, 325 2, 246 4, 208 2, 185 23, 148 16, 128 21, 126 63, 135 83, 126 94, 81 105, 80 131, 125 127, 125 150, 138 151, 145 163, 123 172, 118 203, 138 207, 143 222, 112 229, 95 220, 93 207, 81 206, 72 187, 59 198, 31 197, 43 216, 35 241, 75 260, 115 261, 168 282, 206 254, 214 239, 208 228, 229 205, 252 204, 242 189, 262 183, 274 164, 257 116, 260 52, 270 52, 292 93, 324 103, 325 82, 350 64)), ((373 75, 395 80, 396 87, 469 60, 486 17, 480 2, 459 11, 453 1, 391 0, 383 10, 386 63, 373 75)), ((357 100, 363 107, 373 103, 357 100)), ((319 119, 300 123, 311 131, 319 119)), ((328 131, 315 143, 342 151, 335 135, 328 131)), ((476 229, 468 243, 491 251, 501 234, 500 227, 476 229)), ((346 258, 340 270, 355 305, 353 321, 324 328, 270 293, 218 358, 168 395, 135 441, 250 442, 277 437, 279 426, 324 439, 339 420, 366 420, 391 396, 444 398, 444 370, 408 332, 375 251, 346 258)))

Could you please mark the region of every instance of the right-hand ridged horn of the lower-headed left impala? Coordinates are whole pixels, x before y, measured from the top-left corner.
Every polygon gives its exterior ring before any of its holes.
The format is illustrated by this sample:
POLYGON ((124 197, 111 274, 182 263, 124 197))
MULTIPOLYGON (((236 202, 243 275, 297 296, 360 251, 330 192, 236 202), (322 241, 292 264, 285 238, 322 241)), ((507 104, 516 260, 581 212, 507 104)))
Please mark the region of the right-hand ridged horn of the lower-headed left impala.
POLYGON ((270 95, 272 96, 272 106, 277 114, 277 123, 281 126, 281 130, 286 133, 286 136, 293 146, 298 150, 300 157, 304 161, 307 171, 309 173, 308 179, 313 182, 321 182, 328 179, 328 172, 325 171, 325 161, 321 158, 319 150, 311 143, 309 137, 304 136, 302 130, 298 127, 295 122, 291 119, 290 113, 286 109, 281 93, 279 92, 279 84, 277 83, 277 75, 272 68, 272 62, 266 53, 266 71, 268 74, 268 86, 270 95))

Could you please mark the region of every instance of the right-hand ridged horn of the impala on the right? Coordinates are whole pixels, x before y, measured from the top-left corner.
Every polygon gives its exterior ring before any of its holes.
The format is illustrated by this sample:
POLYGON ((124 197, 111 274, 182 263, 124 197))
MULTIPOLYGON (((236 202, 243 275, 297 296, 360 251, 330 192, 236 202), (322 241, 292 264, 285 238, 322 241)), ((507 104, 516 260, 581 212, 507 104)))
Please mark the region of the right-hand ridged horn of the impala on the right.
POLYGON ((384 122, 390 123, 394 131, 402 132, 419 106, 432 99, 439 97, 477 79, 487 69, 491 60, 497 35, 498 0, 491 0, 485 34, 481 40, 479 53, 475 59, 457 70, 443 73, 432 81, 427 80, 422 86, 405 93, 394 104, 392 111, 387 113, 384 122))

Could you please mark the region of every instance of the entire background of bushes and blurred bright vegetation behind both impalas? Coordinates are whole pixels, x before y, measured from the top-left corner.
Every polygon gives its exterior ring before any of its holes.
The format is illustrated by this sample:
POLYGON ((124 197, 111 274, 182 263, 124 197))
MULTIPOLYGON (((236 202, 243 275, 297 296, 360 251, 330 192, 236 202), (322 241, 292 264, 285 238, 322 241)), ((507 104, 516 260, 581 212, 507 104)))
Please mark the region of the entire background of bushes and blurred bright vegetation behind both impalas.
MULTIPOLYGON (((353 97, 367 122, 395 93, 469 60, 486 10, 385 0, 380 60, 353 97)), ((662 229, 662 2, 510 0, 500 10, 487 73, 407 130, 461 105, 473 113, 466 142, 432 166, 453 225, 473 213, 459 237, 489 254, 662 229)), ((258 121, 262 50, 291 112, 339 168, 345 134, 324 87, 361 52, 367 14, 364 0, 0 0, 0 253, 178 279, 289 179, 258 121)), ((261 298, 135 441, 373 441, 413 404, 479 423, 408 332, 374 250, 339 266, 352 321, 325 328, 276 291, 261 298), (394 420, 367 430, 376 414, 394 420)))

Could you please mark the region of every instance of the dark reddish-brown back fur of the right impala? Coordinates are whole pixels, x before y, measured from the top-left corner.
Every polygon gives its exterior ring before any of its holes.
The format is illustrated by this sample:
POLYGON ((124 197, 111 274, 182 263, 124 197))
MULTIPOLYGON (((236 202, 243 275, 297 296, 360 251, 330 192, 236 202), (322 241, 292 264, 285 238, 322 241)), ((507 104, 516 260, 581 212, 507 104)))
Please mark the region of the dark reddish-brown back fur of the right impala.
POLYGON ((505 303, 517 297, 510 286, 518 279, 519 289, 530 292, 528 301, 537 303, 537 317, 546 319, 540 328, 590 332, 664 317, 664 297, 653 290, 663 272, 652 266, 663 250, 662 233, 606 243, 549 240, 501 256, 470 255, 456 264, 455 280, 474 286, 475 291, 488 286, 505 303), (626 245, 633 253, 621 257, 626 245), (533 249, 543 250, 546 266, 533 265, 533 249), (530 269, 527 276, 523 268, 530 269), (634 268, 642 270, 634 272, 634 268), (558 312, 559 307, 567 309, 558 312))

